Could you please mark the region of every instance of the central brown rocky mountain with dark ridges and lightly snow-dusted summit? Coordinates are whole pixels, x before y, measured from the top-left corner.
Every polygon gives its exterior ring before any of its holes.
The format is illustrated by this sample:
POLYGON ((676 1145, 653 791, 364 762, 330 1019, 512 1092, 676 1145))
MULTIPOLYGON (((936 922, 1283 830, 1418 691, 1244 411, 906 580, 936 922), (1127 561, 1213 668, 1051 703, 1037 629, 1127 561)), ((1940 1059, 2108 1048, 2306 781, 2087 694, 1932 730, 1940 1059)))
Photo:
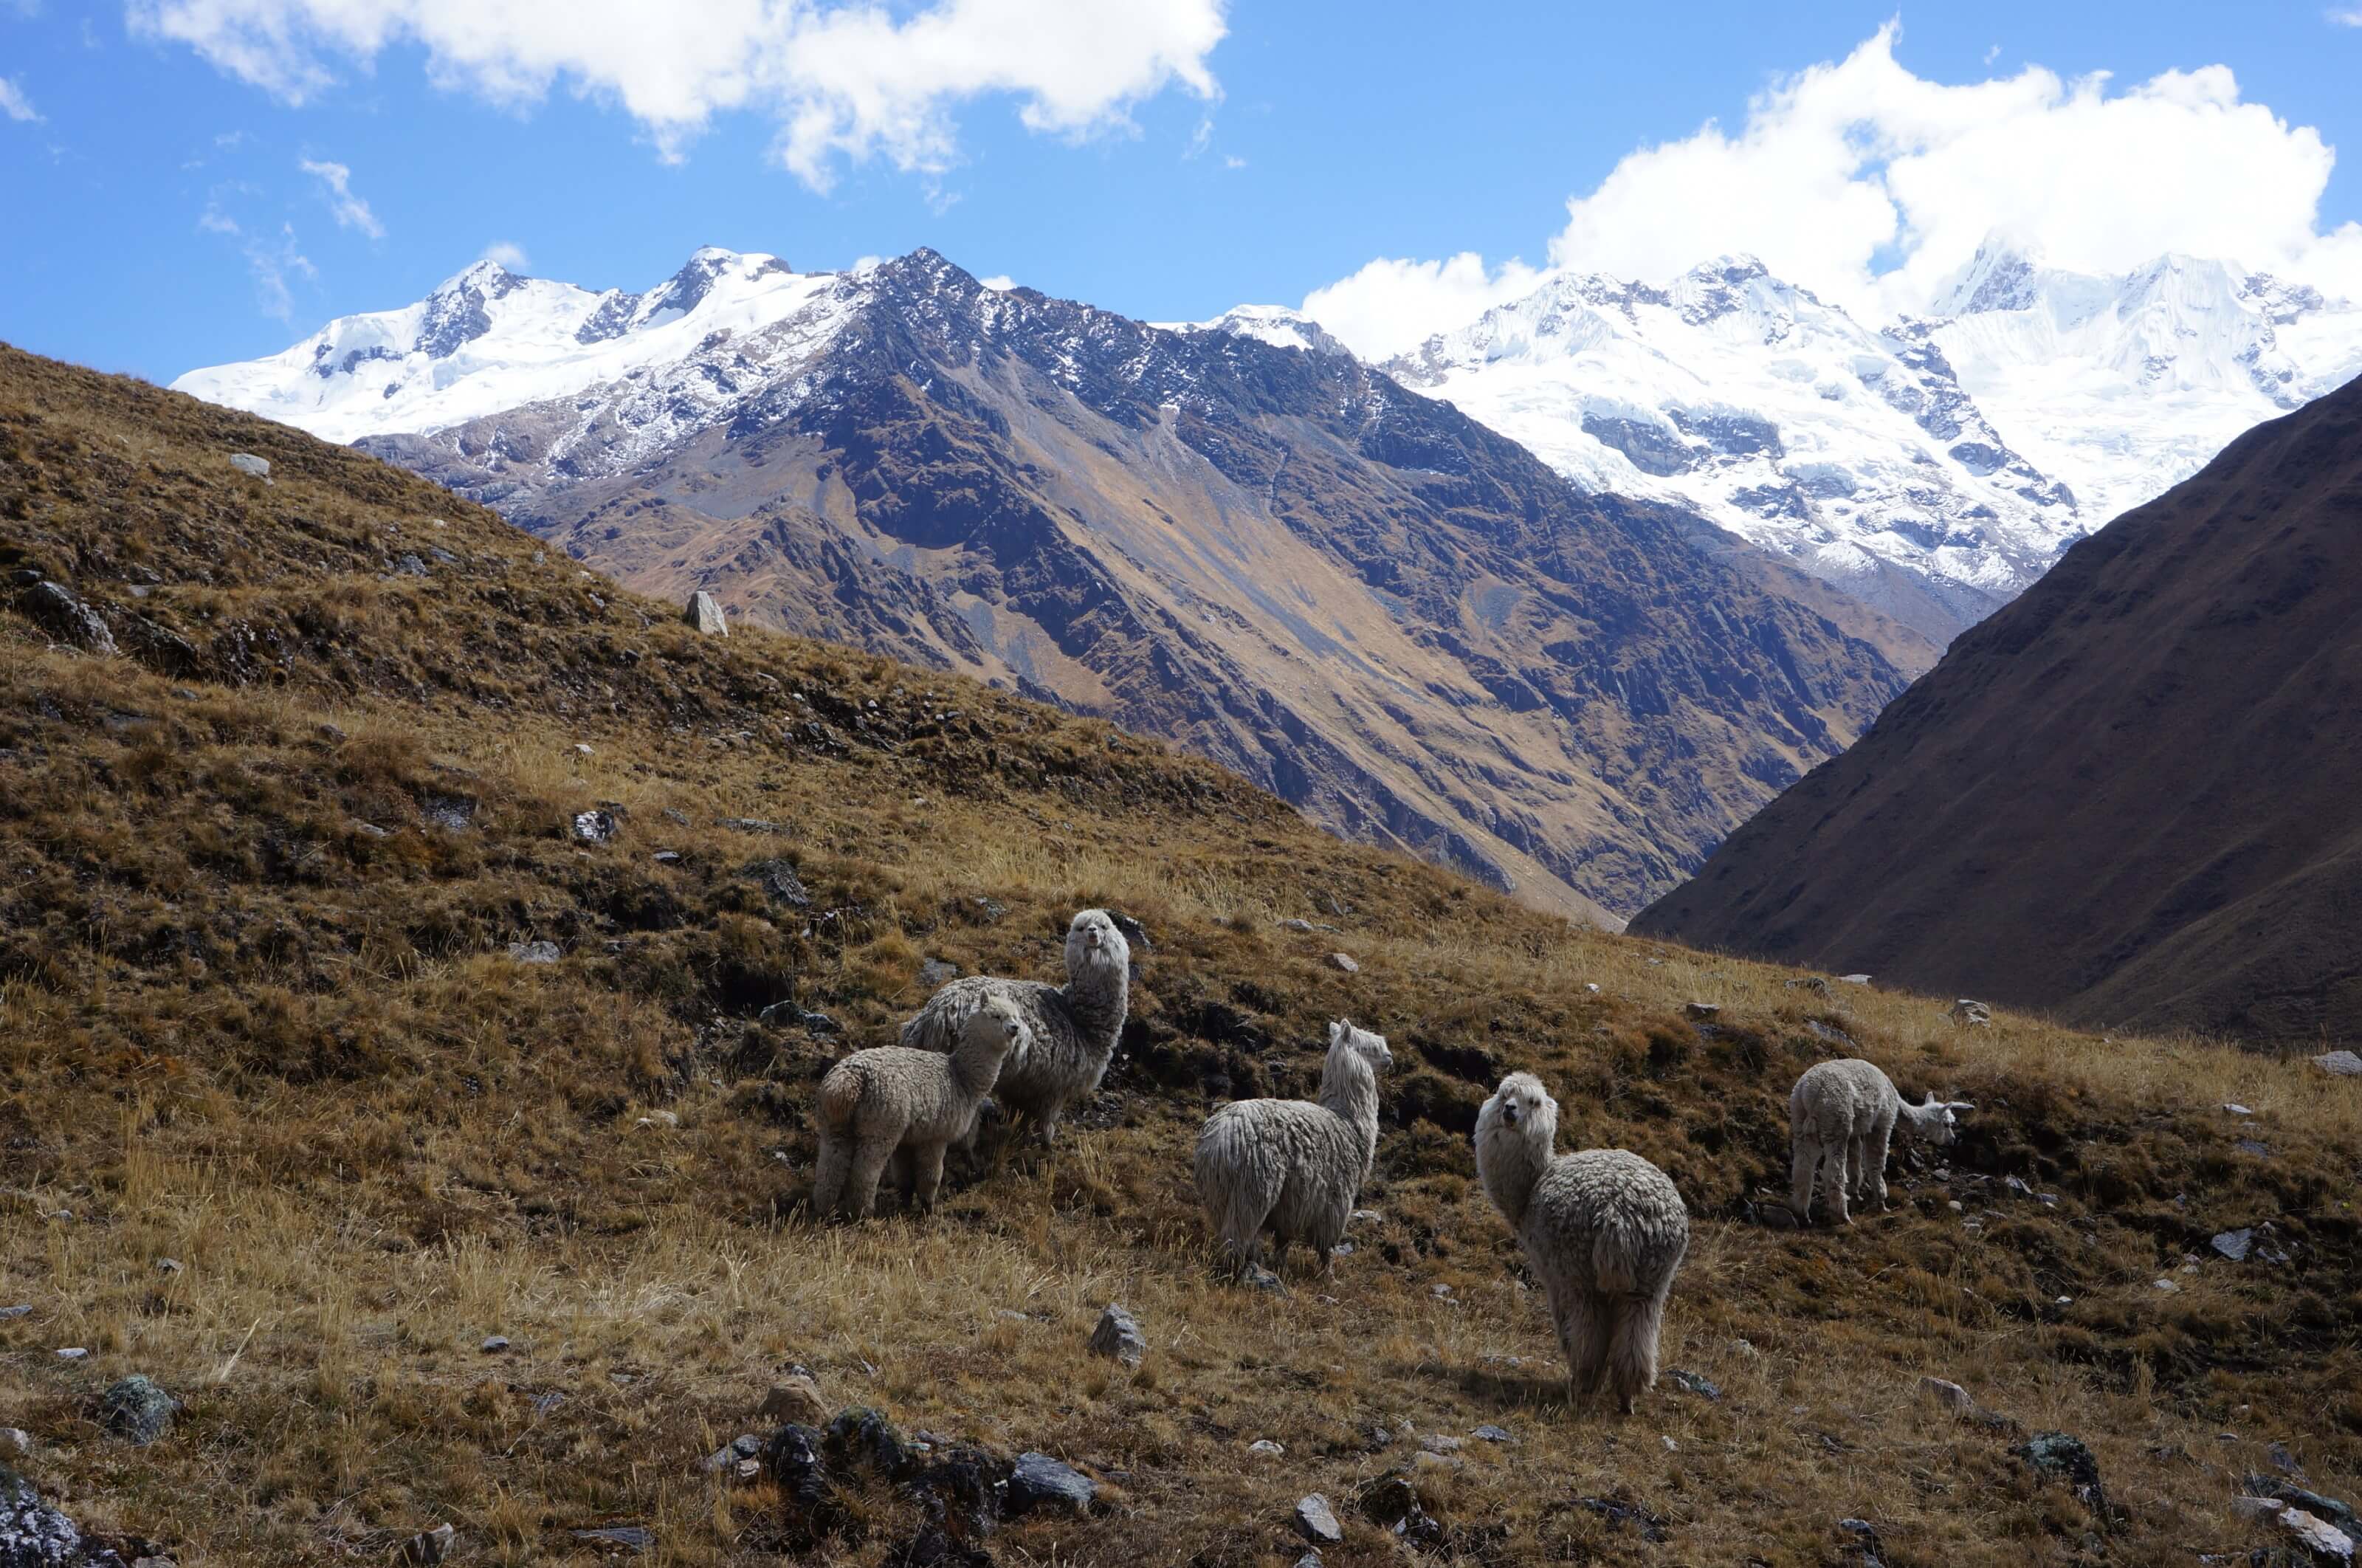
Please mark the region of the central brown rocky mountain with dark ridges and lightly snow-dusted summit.
POLYGON ((794 385, 711 371, 727 418, 638 387, 364 446, 633 588, 1169 737, 1609 923, 1925 654, 1351 357, 987 290, 928 250, 846 288, 794 385), (678 439, 650 451, 652 420, 678 439))

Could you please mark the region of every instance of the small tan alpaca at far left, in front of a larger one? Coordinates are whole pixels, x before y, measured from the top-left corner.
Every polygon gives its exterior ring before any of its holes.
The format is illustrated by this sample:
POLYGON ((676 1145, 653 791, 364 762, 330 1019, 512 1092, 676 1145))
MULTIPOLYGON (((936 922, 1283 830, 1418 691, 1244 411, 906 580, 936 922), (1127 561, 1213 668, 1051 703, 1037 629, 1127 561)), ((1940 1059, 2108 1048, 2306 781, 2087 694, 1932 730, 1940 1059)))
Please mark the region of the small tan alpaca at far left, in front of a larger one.
POLYGON ((829 1067, 820 1079, 820 1169, 813 1214, 846 1211, 869 1219, 879 1174, 893 1167, 902 1202, 935 1207, 942 1150, 976 1129, 1004 1063, 1025 1048, 1025 1020, 1006 997, 985 997, 961 1020, 950 1056, 872 1046, 829 1067))

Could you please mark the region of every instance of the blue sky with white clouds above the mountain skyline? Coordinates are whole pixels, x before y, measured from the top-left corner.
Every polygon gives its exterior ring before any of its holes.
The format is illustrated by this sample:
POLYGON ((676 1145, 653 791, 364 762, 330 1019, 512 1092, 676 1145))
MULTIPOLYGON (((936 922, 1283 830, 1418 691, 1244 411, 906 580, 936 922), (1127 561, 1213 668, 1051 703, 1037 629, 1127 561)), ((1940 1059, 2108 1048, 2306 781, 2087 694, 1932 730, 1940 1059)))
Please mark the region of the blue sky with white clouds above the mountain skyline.
POLYGON ((2362 295, 2348 0, 1925 7, 1885 35, 1892 5, 1124 0, 1079 47, 1091 2, 829 2, 749 83, 751 0, 515 0, 491 43, 420 0, 0 0, 0 338, 168 380, 491 246, 600 288, 702 243, 935 246, 1148 319, 1311 295, 1372 349, 1526 267, 1724 248, 1906 307, 1986 229, 2362 295), (626 21, 569 19, 593 12, 626 21), (678 33, 706 14, 699 54, 678 33))

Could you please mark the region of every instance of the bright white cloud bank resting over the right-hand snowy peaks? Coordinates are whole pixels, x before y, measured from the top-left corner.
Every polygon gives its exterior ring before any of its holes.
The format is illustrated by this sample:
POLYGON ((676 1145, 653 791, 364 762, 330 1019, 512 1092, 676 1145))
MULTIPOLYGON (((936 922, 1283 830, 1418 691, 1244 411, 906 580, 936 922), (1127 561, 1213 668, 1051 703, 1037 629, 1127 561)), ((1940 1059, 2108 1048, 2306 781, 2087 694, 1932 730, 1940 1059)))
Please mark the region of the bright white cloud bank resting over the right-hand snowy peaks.
MULTIPOLYGON (((2041 66, 1949 85, 1897 61, 1897 38, 1890 24, 1842 61, 1772 85, 1736 130, 1710 120, 1627 153, 1568 198, 1549 264, 1665 281, 1753 253, 1885 321, 1925 309, 1998 234, 2076 272, 2185 253, 2362 295, 2362 227, 2319 217, 2336 153, 2310 125, 2244 99, 2227 66, 2123 87, 2041 66)), ((1467 309, 1429 331, 1472 321, 1514 276, 1474 255, 1370 262, 1304 309, 1370 352, 1415 342, 1446 305, 1467 309)))

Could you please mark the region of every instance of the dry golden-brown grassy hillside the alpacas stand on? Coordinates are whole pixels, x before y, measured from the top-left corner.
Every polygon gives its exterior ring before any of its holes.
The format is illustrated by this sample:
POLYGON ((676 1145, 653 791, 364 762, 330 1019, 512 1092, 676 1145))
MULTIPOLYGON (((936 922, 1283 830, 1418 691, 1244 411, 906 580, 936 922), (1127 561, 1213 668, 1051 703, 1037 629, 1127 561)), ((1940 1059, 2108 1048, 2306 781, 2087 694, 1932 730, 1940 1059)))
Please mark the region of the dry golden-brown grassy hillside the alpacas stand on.
POLYGON ((14 352, 0 671, 0 1296, 31 1306, 0 1415, 71 1514, 182 1568, 385 1561, 442 1521, 484 1563, 621 1551, 600 1525, 661 1563, 931 1561, 883 1483, 813 1544, 782 1488, 702 1469, 791 1363, 1105 1483, 997 1563, 1292 1563, 1313 1490, 1327 1563, 1398 1561, 1356 1500, 1422 1436, 1467 1440, 1410 1469, 1438 1563, 1861 1561, 1842 1518, 1887 1563, 2187 1561, 2268 1544, 2230 1500, 2275 1443, 2353 1497, 2362 1115, 2308 1065, 1580 933, 1103 725, 702 640, 397 470, 14 352), (61 645, 19 571, 123 652, 61 645), (928 1221, 803 1223, 824 1065, 928 959, 1053 973, 1079 904, 1153 949, 1072 1141, 928 1221), (560 961, 510 956, 536 940, 560 961), (1379 1216, 1335 1280, 1219 1287, 1188 1141, 1219 1096, 1306 1091, 1335 1015, 1396 1048, 1379 1216), (1892 1214, 1769 1228, 1786 1089, 1854 1051, 1982 1110, 1892 1214), (1509 1067, 1679 1183, 1665 1363, 1720 1400, 1566 1410, 1467 1148, 1509 1067), (1082 1353, 1105 1301, 1136 1372, 1082 1353), (97 1424, 130 1372, 187 1405, 149 1448, 97 1424), (2081 1436, 2112 1509, 1923 1374, 2081 1436))

